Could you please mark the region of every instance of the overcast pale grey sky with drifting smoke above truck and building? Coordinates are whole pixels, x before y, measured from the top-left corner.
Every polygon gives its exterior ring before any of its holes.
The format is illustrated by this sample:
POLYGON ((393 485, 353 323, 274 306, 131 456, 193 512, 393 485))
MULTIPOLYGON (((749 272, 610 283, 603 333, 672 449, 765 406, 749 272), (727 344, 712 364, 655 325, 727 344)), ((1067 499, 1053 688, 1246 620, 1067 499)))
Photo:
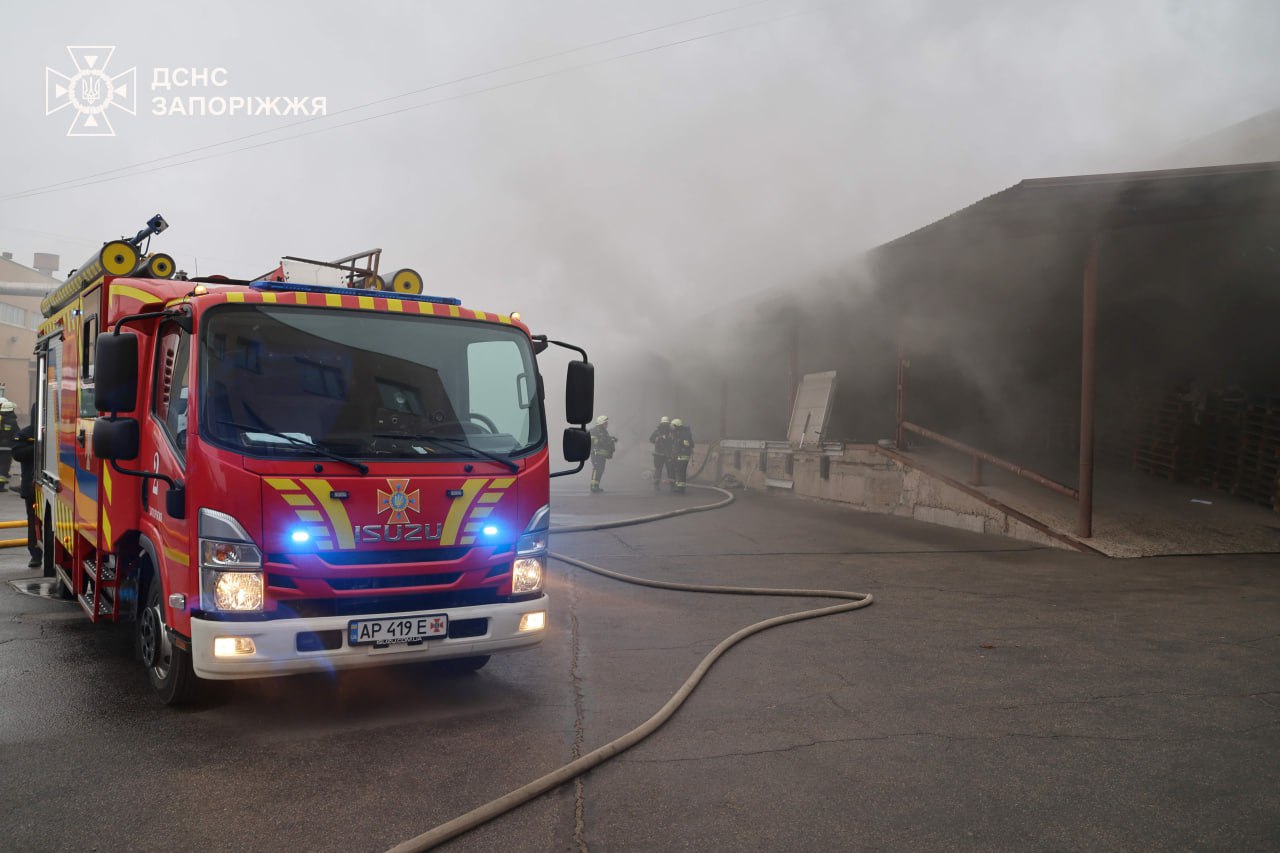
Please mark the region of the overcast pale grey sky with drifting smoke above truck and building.
POLYGON ((65 275, 161 211, 155 247, 188 272, 380 246, 429 292, 589 343, 653 339, 1021 178, 1140 169, 1280 105, 1275 0, 0 9, 0 248, 17 260, 58 252, 65 275), (68 45, 137 69, 114 137, 46 115, 68 45), (227 85, 152 91, 156 68, 227 85), (329 117, 157 117, 157 96, 323 96, 329 117), (111 172, 136 164, 151 172, 111 172))

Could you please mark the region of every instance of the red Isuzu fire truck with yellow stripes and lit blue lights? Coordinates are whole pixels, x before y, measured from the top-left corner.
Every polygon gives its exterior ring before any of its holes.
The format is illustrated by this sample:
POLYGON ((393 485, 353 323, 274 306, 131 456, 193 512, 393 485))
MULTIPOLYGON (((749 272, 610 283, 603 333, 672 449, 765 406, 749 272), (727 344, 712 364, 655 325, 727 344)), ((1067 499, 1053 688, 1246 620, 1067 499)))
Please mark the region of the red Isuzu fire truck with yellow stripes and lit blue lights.
POLYGON ((202 680, 440 661, 541 640, 549 478, 590 453, 593 368, 518 315, 421 293, 374 250, 338 286, 174 278, 106 243, 41 306, 45 574, 132 621, 166 703, 202 680), (549 343, 568 365, 549 470, 549 343))

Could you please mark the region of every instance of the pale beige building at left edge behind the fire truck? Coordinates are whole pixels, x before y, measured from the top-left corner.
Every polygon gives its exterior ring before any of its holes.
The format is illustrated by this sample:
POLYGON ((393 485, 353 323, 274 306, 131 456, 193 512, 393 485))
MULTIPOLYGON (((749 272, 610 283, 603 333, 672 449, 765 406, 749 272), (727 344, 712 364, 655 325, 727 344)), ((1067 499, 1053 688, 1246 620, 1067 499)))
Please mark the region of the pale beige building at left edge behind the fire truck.
POLYGON ((40 325, 40 301, 61 284, 58 255, 37 252, 31 266, 13 259, 13 252, 0 254, 0 386, 4 396, 18 407, 18 420, 27 423, 35 400, 36 327, 40 325))

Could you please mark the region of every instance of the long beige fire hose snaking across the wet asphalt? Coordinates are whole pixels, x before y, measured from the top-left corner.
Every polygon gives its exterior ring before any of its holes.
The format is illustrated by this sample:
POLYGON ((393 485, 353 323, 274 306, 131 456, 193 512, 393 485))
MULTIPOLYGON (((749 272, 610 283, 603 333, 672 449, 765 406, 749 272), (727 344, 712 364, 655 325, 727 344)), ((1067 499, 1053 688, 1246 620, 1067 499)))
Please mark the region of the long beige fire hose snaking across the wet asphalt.
MULTIPOLYGON (((708 453, 709 456, 709 453, 708 453)), ((552 528, 552 533, 580 533, 585 530, 604 530, 609 528, 621 528, 635 524, 646 524, 649 521, 657 521, 659 519, 669 519, 677 515, 689 515, 691 512, 705 512, 708 510, 714 510, 722 506, 728 506, 733 502, 732 492, 726 492, 724 489, 716 488, 712 485, 695 485, 690 484, 691 488, 707 489, 710 492, 719 492, 723 494, 723 500, 714 503, 707 503, 701 506, 684 507, 681 510, 673 510, 671 512, 654 512, 653 515, 643 515, 632 519, 623 519, 618 521, 602 521, 598 524, 577 524, 563 528, 552 528)), ((785 613, 782 616, 773 616, 772 619, 765 619, 753 625, 742 628, 730 637, 726 637, 719 642, 716 648, 708 652, 707 657, 701 660, 696 669, 685 683, 680 685, 680 689, 667 699, 667 703, 662 706, 657 713, 641 722, 639 726, 626 733, 621 738, 616 738, 609 743, 593 749, 585 756, 571 761, 570 763, 553 770, 552 772, 535 779, 534 781, 521 785, 513 792, 504 794, 494 800, 485 803, 470 812, 454 817, 453 820, 440 824, 435 829, 428 830, 421 835, 402 841, 393 847, 388 853, 410 853, 413 850, 429 850, 449 839, 457 838, 463 833, 468 833, 489 821, 504 815, 520 806, 524 806, 531 799, 545 794, 549 790, 559 788, 561 785, 573 781, 577 776, 581 776, 586 771, 596 767, 609 758, 613 758, 618 753, 622 753, 631 747, 636 745, 654 731, 657 731, 667 720, 669 720, 680 706, 685 703, 685 699, 692 694, 694 689, 701 683, 703 678, 707 675, 712 665, 718 661, 724 652, 730 648, 741 643, 748 637, 753 634, 759 634, 760 631, 768 630, 771 628, 777 628, 778 625, 787 625, 790 622, 799 622, 806 619, 819 619, 822 616, 833 616, 836 613, 844 613, 851 610, 858 610, 860 607, 867 607, 874 599, 870 593, 858 593, 846 592, 841 589, 774 589, 769 587, 718 587, 709 584, 680 584, 669 583, 664 580, 649 580, 646 578, 634 578, 631 575, 623 575, 617 571, 609 571, 608 569, 602 569, 600 566, 594 566, 582 560, 575 560, 573 557, 567 557, 561 553, 550 553, 552 558, 561 562, 568 564, 571 566, 577 566, 579 569, 585 569, 586 571, 595 573, 598 575, 604 575, 605 578, 613 578, 614 580, 621 580, 628 584, 637 584, 640 587, 650 587, 653 589, 675 589, 678 592, 694 592, 694 593, 716 593, 723 596, 787 596, 796 598, 840 598, 844 603, 831 605, 827 607, 818 607, 814 610, 803 610, 795 613, 785 613)))

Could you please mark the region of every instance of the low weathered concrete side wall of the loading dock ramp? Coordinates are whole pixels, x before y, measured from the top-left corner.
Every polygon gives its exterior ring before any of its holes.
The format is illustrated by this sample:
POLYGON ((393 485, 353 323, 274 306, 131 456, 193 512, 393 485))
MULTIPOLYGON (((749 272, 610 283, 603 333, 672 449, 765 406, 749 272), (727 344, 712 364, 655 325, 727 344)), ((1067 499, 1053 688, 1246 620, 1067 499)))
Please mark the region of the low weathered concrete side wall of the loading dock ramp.
MULTIPOLYGON (((690 470, 698 470, 708 452, 699 446, 690 470)), ((790 492, 799 497, 845 503, 864 512, 895 515, 973 533, 986 533, 1069 548, 1021 521, 1006 507, 970 494, 945 478, 902 465, 874 444, 847 444, 841 451, 740 450, 710 447, 712 457, 701 480, 732 475, 753 489, 790 492), (762 455, 764 466, 762 467, 762 455), (829 459, 822 476, 822 459, 829 459), (771 485, 772 483, 772 485, 771 485)))

